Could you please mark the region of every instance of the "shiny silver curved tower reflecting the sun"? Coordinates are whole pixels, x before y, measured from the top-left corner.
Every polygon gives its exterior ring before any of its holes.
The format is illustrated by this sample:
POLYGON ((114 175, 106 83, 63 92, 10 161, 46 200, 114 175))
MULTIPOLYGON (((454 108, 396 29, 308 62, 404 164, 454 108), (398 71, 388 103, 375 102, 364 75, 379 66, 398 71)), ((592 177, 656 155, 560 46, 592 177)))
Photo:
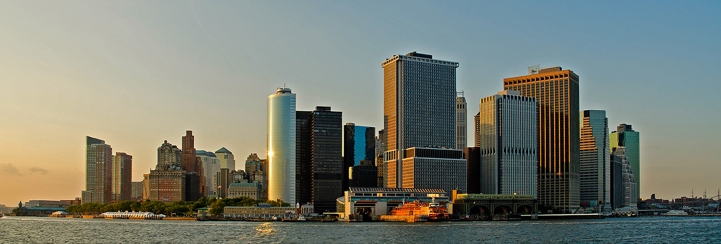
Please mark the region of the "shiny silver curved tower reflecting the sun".
POLYGON ((268 199, 296 203, 296 95, 279 88, 268 96, 268 199))

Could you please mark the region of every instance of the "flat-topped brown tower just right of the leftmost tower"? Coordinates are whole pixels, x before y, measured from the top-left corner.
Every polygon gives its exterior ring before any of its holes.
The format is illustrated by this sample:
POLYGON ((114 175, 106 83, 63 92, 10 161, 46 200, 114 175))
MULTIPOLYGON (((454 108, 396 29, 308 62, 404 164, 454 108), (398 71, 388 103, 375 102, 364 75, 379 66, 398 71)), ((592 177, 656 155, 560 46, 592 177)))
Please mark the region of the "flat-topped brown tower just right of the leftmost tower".
POLYGON ((133 156, 115 152, 112 157, 112 202, 130 201, 132 198, 133 156))

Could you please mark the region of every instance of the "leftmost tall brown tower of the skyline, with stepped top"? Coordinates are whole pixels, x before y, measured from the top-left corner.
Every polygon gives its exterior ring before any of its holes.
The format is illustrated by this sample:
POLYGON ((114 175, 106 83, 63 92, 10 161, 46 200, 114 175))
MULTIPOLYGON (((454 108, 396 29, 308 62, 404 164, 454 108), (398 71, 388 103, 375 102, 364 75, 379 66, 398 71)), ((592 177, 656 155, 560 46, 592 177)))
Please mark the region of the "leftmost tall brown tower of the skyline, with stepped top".
POLYGON ((101 139, 85 136, 85 191, 82 203, 112 201, 112 147, 101 139))

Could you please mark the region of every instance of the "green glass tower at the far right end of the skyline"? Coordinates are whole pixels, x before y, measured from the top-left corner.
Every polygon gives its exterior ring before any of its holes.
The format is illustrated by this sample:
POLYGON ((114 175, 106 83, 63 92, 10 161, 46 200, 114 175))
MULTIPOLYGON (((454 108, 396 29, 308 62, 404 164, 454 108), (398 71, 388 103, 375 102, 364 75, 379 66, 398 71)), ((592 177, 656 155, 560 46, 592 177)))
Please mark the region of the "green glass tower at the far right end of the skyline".
POLYGON ((634 131, 631 125, 622 123, 616 126, 616 131, 609 135, 611 141, 611 149, 614 147, 626 147, 626 157, 628 157, 629 165, 634 175, 634 182, 637 184, 636 196, 641 196, 641 150, 640 135, 638 131, 634 131))

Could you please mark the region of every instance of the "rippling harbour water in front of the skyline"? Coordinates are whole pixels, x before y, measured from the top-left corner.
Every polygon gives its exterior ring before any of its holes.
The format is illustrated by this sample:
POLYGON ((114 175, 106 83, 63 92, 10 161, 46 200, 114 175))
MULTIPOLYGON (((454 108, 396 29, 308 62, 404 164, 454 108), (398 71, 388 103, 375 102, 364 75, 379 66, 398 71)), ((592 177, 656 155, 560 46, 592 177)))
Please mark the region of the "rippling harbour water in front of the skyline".
POLYGON ((721 243, 721 217, 438 223, 3 217, 0 243, 721 243))

